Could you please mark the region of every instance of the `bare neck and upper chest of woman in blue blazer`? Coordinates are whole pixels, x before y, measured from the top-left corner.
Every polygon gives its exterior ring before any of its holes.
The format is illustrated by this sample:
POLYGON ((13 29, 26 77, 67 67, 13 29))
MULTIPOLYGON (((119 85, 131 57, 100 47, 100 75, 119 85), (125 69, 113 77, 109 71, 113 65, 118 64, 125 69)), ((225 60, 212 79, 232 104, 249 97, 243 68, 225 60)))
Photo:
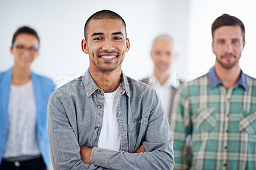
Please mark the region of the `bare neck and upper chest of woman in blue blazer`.
POLYGON ((22 85, 26 84, 30 80, 30 69, 20 68, 19 66, 13 66, 12 68, 12 84, 22 85))

